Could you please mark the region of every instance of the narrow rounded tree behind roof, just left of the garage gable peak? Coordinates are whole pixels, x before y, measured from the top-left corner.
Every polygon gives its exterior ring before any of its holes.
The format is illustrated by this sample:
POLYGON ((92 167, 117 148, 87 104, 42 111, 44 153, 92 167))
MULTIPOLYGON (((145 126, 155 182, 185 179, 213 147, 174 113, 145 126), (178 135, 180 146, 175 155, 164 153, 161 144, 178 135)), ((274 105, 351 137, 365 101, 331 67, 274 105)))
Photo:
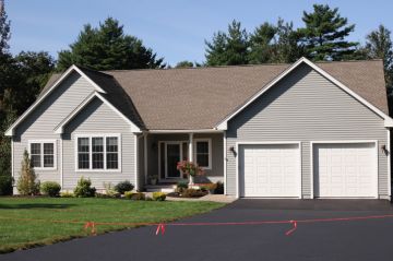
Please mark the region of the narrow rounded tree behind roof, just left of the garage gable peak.
POLYGON ((275 52, 275 35, 277 27, 267 22, 261 24, 250 35, 250 63, 271 62, 275 52))

